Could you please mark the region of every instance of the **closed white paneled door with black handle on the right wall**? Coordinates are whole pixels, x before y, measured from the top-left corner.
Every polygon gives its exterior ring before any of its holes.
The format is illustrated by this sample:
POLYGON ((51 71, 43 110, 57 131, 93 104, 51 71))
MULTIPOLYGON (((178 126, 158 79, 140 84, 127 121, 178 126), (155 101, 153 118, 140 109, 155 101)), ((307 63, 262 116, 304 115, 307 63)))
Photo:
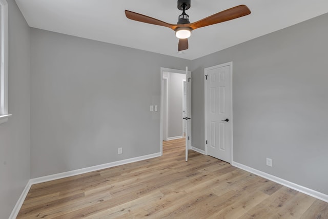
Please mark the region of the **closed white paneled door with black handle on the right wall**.
POLYGON ((232 63, 206 68, 205 146, 207 154, 232 161, 232 63))

